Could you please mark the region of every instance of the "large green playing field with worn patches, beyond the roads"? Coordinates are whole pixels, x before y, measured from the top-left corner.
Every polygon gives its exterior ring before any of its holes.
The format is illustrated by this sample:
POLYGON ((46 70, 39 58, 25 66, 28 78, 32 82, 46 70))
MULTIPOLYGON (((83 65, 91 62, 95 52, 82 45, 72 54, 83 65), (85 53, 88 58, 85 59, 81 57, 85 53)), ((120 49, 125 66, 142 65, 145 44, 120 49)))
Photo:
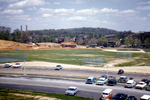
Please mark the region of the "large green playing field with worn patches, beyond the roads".
MULTIPOLYGON (((138 49, 132 49, 132 51, 138 49)), ((126 50, 128 51, 128 50, 126 50)), ((150 50, 146 53, 132 53, 132 61, 118 64, 117 66, 150 66, 150 50)), ((52 50, 19 50, 0 51, 0 53, 26 53, 28 61, 46 61, 73 65, 82 65, 83 58, 101 58, 104 63, 109 63, 117 59, 128 59, 122 56, 117 57, 116 52, 103 51, 101 49, 52 49, 52 50)))

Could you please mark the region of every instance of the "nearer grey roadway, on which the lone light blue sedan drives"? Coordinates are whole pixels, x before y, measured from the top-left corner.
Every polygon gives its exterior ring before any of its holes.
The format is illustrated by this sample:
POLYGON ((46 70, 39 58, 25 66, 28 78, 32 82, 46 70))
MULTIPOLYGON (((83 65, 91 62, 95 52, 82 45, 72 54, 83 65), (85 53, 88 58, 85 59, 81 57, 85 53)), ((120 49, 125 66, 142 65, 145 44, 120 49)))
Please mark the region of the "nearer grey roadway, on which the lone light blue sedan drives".
POLYGON ((116 86, 85 84, 86 80, 82 79, 68 79, 68 78, 53 78, 53 77, 35 77, 35 76, 20 76, 20 75, 0 75, 0 87, 10 89, 22 89, 31 91, 41 91, 49 93, 64 94, 69 86, 79 87, 79 92, 76 96, 99 99, 100 94, 106 88, 113 89, 113 93, 118 92, 134 95, 138 98, 149 94, 149 91, 124 88, 124 84, 117 84, 116 86))

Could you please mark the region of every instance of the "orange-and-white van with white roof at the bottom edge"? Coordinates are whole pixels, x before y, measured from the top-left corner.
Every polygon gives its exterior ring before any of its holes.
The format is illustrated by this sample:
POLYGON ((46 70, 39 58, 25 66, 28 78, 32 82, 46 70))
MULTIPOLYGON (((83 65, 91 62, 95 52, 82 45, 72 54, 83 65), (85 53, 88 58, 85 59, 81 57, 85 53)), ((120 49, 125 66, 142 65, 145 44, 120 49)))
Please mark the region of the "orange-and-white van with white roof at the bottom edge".
POLYGON ((109 100, 110 98, 112 98, 112 96, 113 96, 112 89, 105 89, 103 93, 101 94, 101 97, 99 100, 109 100))

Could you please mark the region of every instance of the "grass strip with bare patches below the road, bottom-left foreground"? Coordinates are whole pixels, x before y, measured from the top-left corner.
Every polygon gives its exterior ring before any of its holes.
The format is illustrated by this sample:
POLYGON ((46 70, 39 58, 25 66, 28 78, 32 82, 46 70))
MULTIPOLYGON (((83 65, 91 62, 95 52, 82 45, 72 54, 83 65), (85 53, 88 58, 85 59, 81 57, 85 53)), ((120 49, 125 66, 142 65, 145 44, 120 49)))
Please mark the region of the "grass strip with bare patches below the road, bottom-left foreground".
POLYGON ((64 94, 0 88, 0 100, 95 100, 64 94))

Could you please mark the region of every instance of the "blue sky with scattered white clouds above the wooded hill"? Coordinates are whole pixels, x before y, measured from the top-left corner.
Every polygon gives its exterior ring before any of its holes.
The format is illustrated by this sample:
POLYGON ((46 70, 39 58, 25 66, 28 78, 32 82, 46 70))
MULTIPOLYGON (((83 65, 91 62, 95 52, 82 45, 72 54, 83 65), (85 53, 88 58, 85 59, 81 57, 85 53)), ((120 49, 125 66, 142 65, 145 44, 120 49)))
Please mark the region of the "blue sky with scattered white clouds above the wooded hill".
MULTIPOLYGON (((0 0, 0 26, 150 31, 150 0, 0 0)), ((21 29, 20 29, 21 30, 21 29)))

